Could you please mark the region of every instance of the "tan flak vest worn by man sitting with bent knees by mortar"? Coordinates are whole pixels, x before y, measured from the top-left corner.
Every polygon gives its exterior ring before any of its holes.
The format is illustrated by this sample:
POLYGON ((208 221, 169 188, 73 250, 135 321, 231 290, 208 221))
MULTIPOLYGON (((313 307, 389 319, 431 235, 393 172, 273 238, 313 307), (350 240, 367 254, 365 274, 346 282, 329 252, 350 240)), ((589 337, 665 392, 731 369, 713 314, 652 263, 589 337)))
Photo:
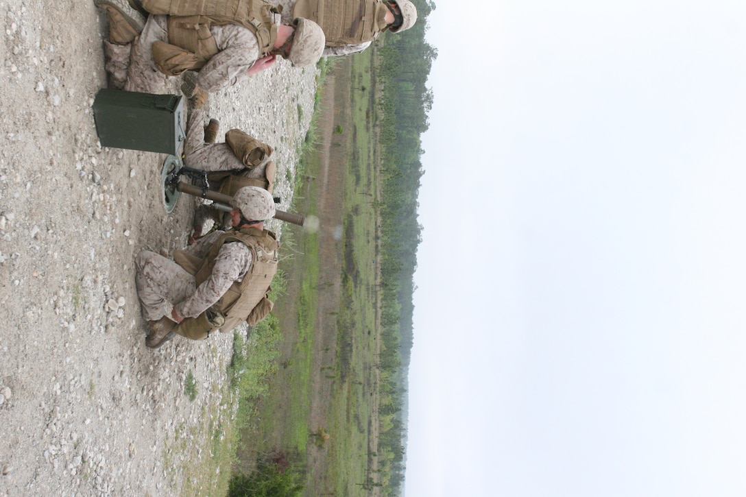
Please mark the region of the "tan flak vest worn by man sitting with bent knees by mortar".
POLYGON ((241 322, 255 325, 272 310, 272 301, 267 298, 269 285, 278 270, 278 242, 275 234, 257 228, 241 228, 226 231, 219 237, 204 259, 190 256, 184 251, 174 253, 174 260, 195 276, 198 287, 213 272, 215 259, 224 243, 240 242, 251 251, 251 266, 241 281, 234 281, 228 291, 210 309, 219 310, 225 316, 221 331, 231 331, 241 322), (196 271, 195 271, 196 269, 196 271))

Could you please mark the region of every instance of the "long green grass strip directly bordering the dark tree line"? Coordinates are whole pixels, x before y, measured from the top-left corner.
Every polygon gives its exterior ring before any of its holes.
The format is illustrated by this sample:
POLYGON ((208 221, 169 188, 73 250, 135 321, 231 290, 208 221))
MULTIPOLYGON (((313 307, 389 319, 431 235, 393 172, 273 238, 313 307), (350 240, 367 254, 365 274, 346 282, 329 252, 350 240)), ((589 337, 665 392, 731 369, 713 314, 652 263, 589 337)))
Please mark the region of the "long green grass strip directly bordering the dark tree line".
MULTIPOLYGON (((361 54, 362 55, 362 54, 361 54)), ((372 90, 370 59, 352 59, 353 87, 372 90)), ((345 184, 345 265, 342 274, 342 304, 337 316, 336 373, 344 378, 332 399, 327 418, 332 434, 328 445, 327 481, 333 483, 335 495, 359 493, 357 484, 365 482, 369 457, 369 436, 366 422, 375 419, 364 386, 372 377, 375 363, 373 336, 375 313, 372 288, 375 272, 372 260, 376 256, 374 230, 376 220, 374 128, 370 119, 370 93, 351 91, 351 123, 345 124, 347 149, 352 151, 345 184), (352 333, 351 333, 352 331, 352 333)))

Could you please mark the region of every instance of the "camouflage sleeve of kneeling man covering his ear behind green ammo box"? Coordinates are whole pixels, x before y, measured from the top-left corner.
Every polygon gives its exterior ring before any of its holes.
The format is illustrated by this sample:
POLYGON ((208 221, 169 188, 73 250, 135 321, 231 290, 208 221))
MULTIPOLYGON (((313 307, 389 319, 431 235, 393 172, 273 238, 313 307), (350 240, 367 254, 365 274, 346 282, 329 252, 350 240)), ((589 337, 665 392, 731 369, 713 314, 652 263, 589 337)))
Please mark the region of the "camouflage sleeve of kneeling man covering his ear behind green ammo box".
POLYGON ((199 71, 197 84, 214 93, 232 87, 259 58, 257 37, 238 25, 213 26, 210 32, 220 50, 199 71))

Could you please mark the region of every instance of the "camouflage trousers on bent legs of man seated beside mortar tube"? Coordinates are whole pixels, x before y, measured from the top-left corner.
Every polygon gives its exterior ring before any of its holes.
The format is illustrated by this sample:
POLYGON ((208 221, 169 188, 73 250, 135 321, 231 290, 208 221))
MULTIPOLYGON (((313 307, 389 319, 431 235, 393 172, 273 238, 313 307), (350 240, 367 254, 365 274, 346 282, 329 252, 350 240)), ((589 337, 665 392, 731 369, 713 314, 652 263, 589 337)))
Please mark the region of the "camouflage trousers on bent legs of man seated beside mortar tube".
POLYGON ((148 321, 171 316, 174 304, 195 292, 194 276, 173 260, 148 250, 135 257, 135 284, 142 316, 148 321))

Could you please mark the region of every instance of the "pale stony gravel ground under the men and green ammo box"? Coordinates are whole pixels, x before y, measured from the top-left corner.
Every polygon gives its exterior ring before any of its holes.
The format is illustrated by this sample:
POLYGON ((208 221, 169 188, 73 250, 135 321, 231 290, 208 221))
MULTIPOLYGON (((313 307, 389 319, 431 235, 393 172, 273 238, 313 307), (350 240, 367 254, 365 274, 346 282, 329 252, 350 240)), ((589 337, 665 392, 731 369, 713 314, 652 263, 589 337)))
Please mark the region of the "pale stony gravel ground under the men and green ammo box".
MULTIPOLYGON (((183 246, 196 200, 167 216, 164 156, 98 143, 91 1, 0 0, 0 19, 0 496, 180 495, 210 457, 205 418, 235 407, 233 338, 146 348, 133 260, 183 246)), ((314 76, 280 62, 208 104, 219 140, 241 128, 275 147, 284 210, 314 76)))

